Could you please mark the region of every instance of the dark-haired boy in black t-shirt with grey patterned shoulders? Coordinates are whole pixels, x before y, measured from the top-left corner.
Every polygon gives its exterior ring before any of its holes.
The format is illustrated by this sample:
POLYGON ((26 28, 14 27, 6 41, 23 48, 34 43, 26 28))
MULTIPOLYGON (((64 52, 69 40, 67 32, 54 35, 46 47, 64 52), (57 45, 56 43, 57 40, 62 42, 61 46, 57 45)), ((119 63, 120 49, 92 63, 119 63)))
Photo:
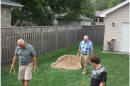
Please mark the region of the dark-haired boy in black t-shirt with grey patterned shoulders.
POLYGON ((97 55, 90 57, 91 65, 94 67, 91 76, 90 86, 106 86, 107 72, 100 64, 100 58, 97 55))

